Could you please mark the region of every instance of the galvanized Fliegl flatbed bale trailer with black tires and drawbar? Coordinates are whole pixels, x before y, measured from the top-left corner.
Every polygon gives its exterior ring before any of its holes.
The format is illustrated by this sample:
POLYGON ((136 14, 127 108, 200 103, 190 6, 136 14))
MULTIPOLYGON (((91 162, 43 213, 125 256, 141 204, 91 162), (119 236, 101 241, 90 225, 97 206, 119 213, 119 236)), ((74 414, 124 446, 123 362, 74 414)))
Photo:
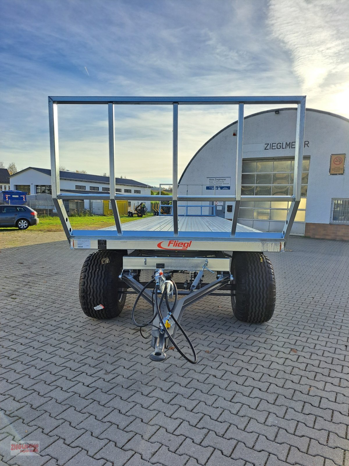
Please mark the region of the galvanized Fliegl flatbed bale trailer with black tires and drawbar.
POLYGON ((193 344, 181 326, 185 308, 207 295, 222 290, 231 297, 232 312, 243 322, 267 322, 275 309, 275 276, 265 252, 284 249, 301 199, 305 96, 253 97, 49 97, 52 197, 71 249, 94 249, 84 262, 79 282, 83 312, 97 319, 117 317, 128 293, 136 294, 132 310, 134 325, 151 328, 150 358, 166 359, 165 349, 173 345, 181 356, 196 363, 193 344), (296 104, 295 168, 290 196, 241 194, 244 104, 296 104), (61 193, 59 178, 57 107, 64 104, 100 104, 108 108, 109 193, 61 193), (115 195, 114 108, 116 105, 170 105, 173 108, 173 193, 161 195, 115 195), (178 109, 181 105, 225 104, 238 106, 235 193, 225 195, 178 195, 178 109), (159 215, 129 222, 121 227, 118 200, 171 201, 172 215, 159 215), (140 199, 141 198, 141 199, 140 199), (115 226, 103 230, 73 230, 63 201, 105 199, 112 206, 115 226), (214 216, 178 215, 178 206, 188 202, 228 201, 233 203, 232 221, 214 216), (290 202, 281 232, 262 233, 237 223, 241 201, 290 202), (141 271, 152 272, 141 281, 141 271), (175 281, 175 274, 188 275, 175 281), (205 276, 214 279, 205 283, 205 276), (133 290, 133 291, 131 291, 133 290), (140 298, 148 302, 151 316, 135 318, 140 298), (188 341, 192 355, 178 345, 176 333, 188 341))

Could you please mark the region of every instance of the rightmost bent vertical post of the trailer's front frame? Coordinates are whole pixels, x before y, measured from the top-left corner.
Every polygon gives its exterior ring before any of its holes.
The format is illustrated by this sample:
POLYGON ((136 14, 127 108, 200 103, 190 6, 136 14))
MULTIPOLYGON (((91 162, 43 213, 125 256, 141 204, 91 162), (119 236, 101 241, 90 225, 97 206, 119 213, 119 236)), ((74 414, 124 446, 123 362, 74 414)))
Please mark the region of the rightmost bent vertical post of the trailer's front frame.
POLYGON ((289 234, 299 203, 301 201, 301 189, 302 189, 302 165, 303 165, 303 148, 304 148, 304 126, 305 126, 305 99, 302 99, 301 103, 297 105, 297 125, 295 131, 295 169, 293 178, 293 197, 294 201, 291 202, 289 213, 285 224, 283 226, 282 235, 285 240, 288 240, 289 234))

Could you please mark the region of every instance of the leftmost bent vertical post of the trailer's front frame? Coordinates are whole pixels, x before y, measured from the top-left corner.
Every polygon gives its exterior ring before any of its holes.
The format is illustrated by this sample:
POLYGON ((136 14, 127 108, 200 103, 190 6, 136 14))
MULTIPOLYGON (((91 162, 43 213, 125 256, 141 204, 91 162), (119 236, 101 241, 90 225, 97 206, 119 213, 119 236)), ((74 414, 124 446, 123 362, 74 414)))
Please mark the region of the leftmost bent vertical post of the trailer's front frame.
POLYGON ((57 199, 57 194, 60 194, 60 160, 58 150, 58 112, 57 103, 48 97, 48 122, 50 131, 50 155, 51 155, 51 192, 54 206, 63 226, 64 233, 66 233, 69 240, 72 233, 72 226, 68 219, 67 211, 64 207, 63 201, 57 199))

